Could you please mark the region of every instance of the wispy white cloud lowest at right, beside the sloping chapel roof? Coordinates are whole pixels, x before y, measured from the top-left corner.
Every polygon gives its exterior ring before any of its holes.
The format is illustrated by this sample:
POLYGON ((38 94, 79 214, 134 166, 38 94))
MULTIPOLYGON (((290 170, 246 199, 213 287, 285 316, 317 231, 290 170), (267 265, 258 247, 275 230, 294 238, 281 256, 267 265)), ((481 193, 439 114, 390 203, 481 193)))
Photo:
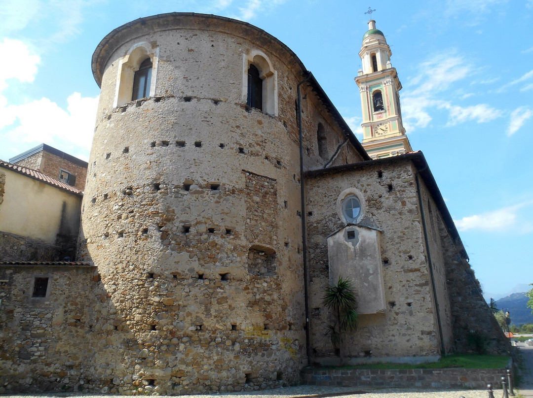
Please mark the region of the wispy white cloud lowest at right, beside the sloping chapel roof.
POLYGON ((461 220, 454 220, 455 226, 459 231, 473 229, 502 232, 513 228, 518 233, 528 233, 533 230, 533 226, 519 217, 519 210, 531 204, 533 204, 531 201, 522 202, 514 206, 463 217, 461 220))

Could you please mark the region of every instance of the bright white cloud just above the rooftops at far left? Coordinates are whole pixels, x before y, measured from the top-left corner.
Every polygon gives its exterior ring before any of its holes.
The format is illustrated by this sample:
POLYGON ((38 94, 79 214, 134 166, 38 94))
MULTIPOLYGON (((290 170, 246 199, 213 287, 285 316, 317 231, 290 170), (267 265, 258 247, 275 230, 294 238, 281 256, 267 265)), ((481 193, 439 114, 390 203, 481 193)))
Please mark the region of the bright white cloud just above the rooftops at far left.
POLYGON ((67 103, 66 111, 49 98, 4 107, 2 113, 10 123, 4 126, 0 139, 5 143, 21 143, 20 152, 31 145, 46 143, 87 159, 98 97, 74 93, 67 98, 67 103))

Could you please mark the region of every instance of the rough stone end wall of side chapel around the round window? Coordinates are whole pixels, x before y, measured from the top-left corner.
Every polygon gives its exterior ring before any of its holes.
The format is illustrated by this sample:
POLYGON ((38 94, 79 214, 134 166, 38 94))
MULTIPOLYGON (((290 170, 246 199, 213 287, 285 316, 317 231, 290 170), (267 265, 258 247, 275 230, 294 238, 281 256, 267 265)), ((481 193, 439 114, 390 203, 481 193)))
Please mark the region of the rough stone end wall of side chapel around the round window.
POLYGON ((332 343, 325 335, 326 325, 333 318, 321 298, 329 280, 326 238, 344 227, 337 198, 349 188, 361 193, 363 214, 358 223, 381 231, 386 309, 384 313, 360 316, 358 330, 346 338, 346 355, 352 358, 440 355, 413 165, 399 159, 374 165, 355 164, 330 173, 311 174, 306 188, 314 360, 322 363, 336 360, 332 343))

